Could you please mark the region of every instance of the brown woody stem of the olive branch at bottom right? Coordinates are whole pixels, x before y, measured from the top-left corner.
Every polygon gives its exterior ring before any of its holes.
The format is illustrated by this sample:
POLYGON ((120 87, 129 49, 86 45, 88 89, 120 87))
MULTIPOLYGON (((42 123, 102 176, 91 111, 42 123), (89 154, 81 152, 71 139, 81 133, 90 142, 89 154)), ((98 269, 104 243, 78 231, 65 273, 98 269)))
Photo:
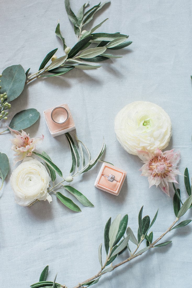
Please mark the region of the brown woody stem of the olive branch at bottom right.
MULTIPOLYGON (((153 248, 154 245, 155 245, 157 242, 159 242, 159 240, 161 240, 168 232, 170 232, 170 230, 171 230, 172 227, 177 223, 178 220, 179 220, 179 219, 176 218, 175 221, 171 224, 171 226, 170 226, 159 238, 157 238, 157 240, 155 240, 153 243, 151 243, 151 244, 149 245, 150 248, 153 248)), ((113 267, 113 270, 114 270, 115 268, 117 268, 117 267, 119 267, 119 266, 121 266, 121 265, 123 265, 123 264, 125 264, 125 263, 127 263, 127 262, 129 262, 129 261, 131 261, 132 259, 134 259, 134 258, 142 255, 144 252, 138 253, 138 254, 136 254, 136 255, 135 255, 135 253, 136 253, 136 251, 138 250, 138 248, 139 248, 139 246, 140 246, 140 244, 142 243, 143 240, 144 240, 144 238, 141 238, 141 240, 140 240, 140 242, 139 242, 136 250, 134 251, 134 253, 133 253, 129 258, 127 258, 126 260, 120 262, 120 263, 117 264, 117 265, 112 266, 112 267, 113 267)), ((110 254, 109 254, 109 255, 110 255, 110 254)), ((108 256, 107 258, 109 259, 109 256, 108 256)), ((84 285, 84 283, 93 281, 93 280, 97 279, 99 276, 101 276, 101 275, 102 275, 102 270, 105 268, 105 265, 106 265, 107 261, 108 261, 108 260, 106 260, 106 262, 105 262, 104 266, 102 267, 102 269, 101 269, 95 276, 93 276, 93 277, 85 280, 85 281, 82 282, 82 283, 79 283, 78 285, 74 286, 73 288, 81 288, 81 287, 84 285)))

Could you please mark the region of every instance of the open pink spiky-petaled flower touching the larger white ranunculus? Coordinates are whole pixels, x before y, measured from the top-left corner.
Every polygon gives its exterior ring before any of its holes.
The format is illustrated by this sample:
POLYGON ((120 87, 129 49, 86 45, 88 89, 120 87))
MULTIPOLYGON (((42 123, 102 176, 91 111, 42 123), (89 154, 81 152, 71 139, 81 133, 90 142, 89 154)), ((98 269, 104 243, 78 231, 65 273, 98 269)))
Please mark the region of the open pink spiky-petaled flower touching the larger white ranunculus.
POLYGON ((161 151, 158 148, 154 153, 148 151, 138 151, 139 157, 145 163, 140 171, 141 176, 148 177, 149 188, 156 185, 169 196, 168 182, 177 183, 175 176, 180 174, 177 164, 180 160, 180 152, 161 151))

